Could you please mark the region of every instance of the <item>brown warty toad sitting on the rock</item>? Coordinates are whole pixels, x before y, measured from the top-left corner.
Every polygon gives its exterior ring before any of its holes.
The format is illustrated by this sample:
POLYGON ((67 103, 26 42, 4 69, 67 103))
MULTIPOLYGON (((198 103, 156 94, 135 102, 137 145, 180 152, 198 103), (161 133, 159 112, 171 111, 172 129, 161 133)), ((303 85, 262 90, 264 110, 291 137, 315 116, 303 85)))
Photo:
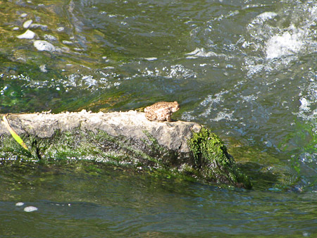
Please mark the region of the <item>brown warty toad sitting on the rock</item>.
POLYGON ((177 101, 168 102, 168 101, 159 101, 152 106, 147 106, 144 108, 145 117, 148 120, 159 120, 168 122, 172 121, 170 116, 180 109, 180 105, 177 101))

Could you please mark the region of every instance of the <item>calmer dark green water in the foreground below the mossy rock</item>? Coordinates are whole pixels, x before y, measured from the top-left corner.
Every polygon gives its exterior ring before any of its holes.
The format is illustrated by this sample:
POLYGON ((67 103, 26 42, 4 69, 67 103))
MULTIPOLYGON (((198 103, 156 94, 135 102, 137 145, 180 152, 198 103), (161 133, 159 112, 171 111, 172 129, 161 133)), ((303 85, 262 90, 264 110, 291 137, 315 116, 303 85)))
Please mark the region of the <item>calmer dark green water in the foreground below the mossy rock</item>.
POLYGON ((16 164, 1 175, 0 216, 1 237, 302 237, 316 232, 316 198, 228 191, 89 162, 16 164))

